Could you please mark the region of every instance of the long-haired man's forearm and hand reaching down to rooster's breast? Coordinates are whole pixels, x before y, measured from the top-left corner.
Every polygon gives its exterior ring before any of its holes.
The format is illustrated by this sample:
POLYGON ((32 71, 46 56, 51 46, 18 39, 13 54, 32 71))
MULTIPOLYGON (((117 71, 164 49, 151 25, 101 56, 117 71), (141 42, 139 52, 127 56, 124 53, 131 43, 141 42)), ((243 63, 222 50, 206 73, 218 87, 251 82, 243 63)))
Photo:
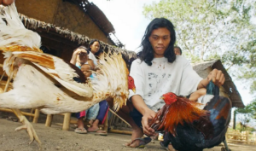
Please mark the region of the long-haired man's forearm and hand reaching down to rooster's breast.
POLYGON ((146 103, 143 101, 142 96, 135 95, 131 97, 131 102, 138 112, 143 114, 142 124, 143 132, 147 136, 154 136, 154 129, 149 127, 148 122, 154 118, 155 112, 148 108, 146 103))

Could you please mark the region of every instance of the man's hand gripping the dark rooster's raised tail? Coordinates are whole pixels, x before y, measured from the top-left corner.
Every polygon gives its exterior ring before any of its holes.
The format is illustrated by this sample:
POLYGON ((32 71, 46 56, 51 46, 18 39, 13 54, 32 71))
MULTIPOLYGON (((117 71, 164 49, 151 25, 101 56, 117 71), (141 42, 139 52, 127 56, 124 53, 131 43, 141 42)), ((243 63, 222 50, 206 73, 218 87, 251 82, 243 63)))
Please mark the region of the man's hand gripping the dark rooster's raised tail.
POLYGON ((207 76, 208 82, 212 80, 213 84, 221 86, 225 82, 224 73, 222 71, 213 69, 211 73, 207 76))

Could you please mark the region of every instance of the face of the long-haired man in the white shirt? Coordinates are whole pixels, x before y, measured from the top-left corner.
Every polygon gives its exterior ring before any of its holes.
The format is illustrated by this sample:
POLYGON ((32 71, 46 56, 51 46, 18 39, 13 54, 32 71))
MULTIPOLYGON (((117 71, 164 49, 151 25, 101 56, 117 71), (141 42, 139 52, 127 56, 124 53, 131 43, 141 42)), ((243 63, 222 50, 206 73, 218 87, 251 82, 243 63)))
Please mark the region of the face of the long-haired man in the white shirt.
POLYGON ((171 42, 171 33, 166 27, 154 29, 148 40, 154 49, 154 58, 160 58, 171 42))

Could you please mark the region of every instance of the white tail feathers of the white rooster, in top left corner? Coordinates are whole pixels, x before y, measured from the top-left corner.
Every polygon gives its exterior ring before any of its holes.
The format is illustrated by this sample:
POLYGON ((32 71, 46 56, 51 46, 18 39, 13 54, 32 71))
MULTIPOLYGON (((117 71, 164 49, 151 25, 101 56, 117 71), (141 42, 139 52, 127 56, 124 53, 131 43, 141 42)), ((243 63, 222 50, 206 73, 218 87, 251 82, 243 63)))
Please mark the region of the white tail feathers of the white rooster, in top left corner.
POLYGON ((0 7, 0 49, 3 51, 24 50, 25 47, 39 51, 41 38, 37 32, 32 32, 23 26, 15 3, 8 7, 0 7), (13 48, 14 46, 22 48, 13 48))

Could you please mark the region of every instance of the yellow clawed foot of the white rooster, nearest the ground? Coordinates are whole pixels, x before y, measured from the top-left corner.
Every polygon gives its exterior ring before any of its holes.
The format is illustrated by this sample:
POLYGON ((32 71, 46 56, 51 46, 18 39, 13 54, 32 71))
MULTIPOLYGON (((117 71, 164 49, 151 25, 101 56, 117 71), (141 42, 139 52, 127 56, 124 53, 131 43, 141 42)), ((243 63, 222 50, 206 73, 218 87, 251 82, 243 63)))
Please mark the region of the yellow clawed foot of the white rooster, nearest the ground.
POLYGON ((29 137, 30 137, 30 142, 29 144, 31 144, 34 140, 36 140, 38 142, 39 148, 41 148, 41 142, 39 140, 39 137, 36 133, 36 131, 34 130, 32 124, 26 119, 25 116, 22 116, 20 118, 20 122, 23 124, 20 127, 17 127, 15 129, 15 131, 20 131, 20 130, 26 130, 26 132, 28 133, 29 137))

